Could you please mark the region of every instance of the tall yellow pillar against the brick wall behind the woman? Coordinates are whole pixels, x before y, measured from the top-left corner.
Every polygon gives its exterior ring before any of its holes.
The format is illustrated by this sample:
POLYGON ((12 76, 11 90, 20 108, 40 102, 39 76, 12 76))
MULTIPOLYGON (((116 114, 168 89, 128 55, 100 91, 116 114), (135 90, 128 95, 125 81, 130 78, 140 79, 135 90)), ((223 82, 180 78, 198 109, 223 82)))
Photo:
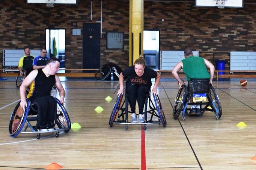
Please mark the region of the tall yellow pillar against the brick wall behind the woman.
POLYGON ((143 55, 144 0, 130 0, 129 66, 143 55))

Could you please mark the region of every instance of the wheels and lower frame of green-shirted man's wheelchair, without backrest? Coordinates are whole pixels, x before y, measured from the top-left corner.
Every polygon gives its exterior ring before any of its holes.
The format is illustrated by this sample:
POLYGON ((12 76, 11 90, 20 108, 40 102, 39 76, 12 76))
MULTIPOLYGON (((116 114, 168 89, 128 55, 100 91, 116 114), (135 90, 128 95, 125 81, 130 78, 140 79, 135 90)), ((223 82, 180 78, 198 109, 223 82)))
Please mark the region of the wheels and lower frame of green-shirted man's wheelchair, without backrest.
POLYGON ((215 113, 216 120, 218 120, 222 115, 222 108, 220 99, 218 98, 214 87, 209 84, 208 92, 206 92, 206 98, 208 99, 207 102, 190 102, 190 99, 194 93, 198 92, 190 93, 189 90, 187 90, 186 84, 182 85, 182 88, 179 89, 178 94, 175 98, 175 103, 173 107, 173 118, 177 119, 182 112, 182 121, 185 121, 186 115, 190 117, 202 117, 205 111, 212 111, 215 113), (190 115, 188 111, 190 111, 191 108, 187 108, 188 105, 200 105, 201 114, 190 115), (202 105, 205 106, 202 107, 202 105))

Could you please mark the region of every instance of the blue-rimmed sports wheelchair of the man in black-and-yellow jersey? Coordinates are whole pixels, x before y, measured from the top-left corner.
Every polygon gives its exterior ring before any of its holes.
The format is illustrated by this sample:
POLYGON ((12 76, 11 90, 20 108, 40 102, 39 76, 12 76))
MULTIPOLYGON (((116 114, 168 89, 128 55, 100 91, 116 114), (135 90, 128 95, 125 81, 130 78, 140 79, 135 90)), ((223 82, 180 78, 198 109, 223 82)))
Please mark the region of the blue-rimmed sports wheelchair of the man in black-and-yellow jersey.
POLYGON ((56 137, 59 137, 59 133, 64 131, 66 133, 71 129, 71 121, 68 116, 68 112, 65 107, 61 105, 59 99, 54 98, 56 101, 56 114, 54 115, 54 124, 53 131, 40 131, 38 120, 38 112, 36 110, 37 106, 32 104, 29 99, 27 99, 27 107, 24 109, 20 106, 20 102, 15 106, 14 111, 12 112, 10 123, 9 123, 9 133, 12 137, 16 137, 19 133, 36 133, 37 139, 40 139, 41 133, 56 133, 56 137), (32 126, 31 122, 37 121, 35 126, 32 126), (26 127, 23 129, 23 126, 26 124, 26 127), (27 131, 27 128, 30 128, 31 131, 27 131))

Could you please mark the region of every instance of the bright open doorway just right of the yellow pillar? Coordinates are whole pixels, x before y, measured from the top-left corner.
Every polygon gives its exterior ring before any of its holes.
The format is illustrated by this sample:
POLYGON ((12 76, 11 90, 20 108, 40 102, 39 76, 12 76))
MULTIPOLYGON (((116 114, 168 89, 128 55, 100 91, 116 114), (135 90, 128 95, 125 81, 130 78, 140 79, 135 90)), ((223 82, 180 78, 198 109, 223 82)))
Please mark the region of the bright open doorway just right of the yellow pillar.
POLYGON ((159 30, 143 31, 143 53, 146 66, 159 69, 159 30))

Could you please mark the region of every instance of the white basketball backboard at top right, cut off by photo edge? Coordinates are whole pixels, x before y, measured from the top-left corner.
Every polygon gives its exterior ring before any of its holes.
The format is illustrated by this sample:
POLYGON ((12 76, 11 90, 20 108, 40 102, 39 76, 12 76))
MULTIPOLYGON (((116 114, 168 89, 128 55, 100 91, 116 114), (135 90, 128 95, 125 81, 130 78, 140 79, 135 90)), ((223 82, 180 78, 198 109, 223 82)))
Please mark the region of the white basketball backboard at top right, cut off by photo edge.
MULTIPOLYGON (((195 0, 195 5, 197 7, 217 7, 216 0, 195 0)), ((227 0, 225 3, 225 8, 243 8, 244 0, 227 0)))

